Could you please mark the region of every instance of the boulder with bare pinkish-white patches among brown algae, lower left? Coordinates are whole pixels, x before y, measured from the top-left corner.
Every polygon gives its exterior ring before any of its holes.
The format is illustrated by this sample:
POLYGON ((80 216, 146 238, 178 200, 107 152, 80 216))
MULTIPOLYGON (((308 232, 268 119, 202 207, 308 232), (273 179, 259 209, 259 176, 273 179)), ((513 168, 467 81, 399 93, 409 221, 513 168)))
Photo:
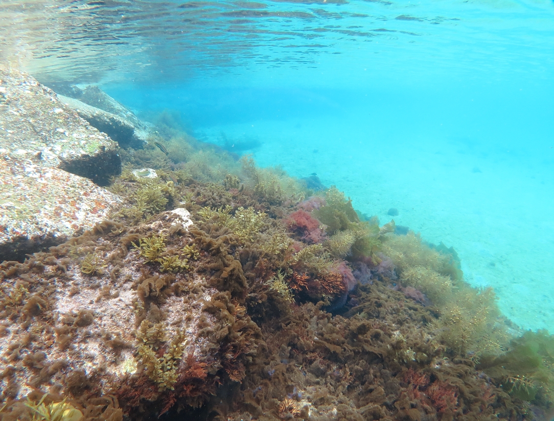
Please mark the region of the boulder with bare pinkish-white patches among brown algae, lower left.
MULTIPOLYGON (((129 231, 106 221, 25 263, 2 264, 3 397, 116 396, 135 419, 143 406, 200 404, 218 383, 241 381, 259 328, 206 272, 224 252, 200 252, 191 224, 180 208, 129 231), (154 243, 158 258, 145 252, 154 243), (171 256, 188 264, 168 273, 171 256)), ((240 277, 240 263, 224 255, 240 277)))

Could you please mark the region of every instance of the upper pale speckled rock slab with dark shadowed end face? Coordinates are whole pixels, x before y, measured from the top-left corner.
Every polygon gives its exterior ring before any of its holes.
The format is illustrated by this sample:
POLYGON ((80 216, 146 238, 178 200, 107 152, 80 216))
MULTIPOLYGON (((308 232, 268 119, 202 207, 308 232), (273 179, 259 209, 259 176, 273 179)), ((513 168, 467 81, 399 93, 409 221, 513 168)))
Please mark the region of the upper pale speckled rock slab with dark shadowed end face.
POLYGON ((117 144, 109 136, 90 126, 33 77, 2 67, 0 147, 9 155, 28 151, 43 167, 65 169, 99 185, 121 171, 117 144))

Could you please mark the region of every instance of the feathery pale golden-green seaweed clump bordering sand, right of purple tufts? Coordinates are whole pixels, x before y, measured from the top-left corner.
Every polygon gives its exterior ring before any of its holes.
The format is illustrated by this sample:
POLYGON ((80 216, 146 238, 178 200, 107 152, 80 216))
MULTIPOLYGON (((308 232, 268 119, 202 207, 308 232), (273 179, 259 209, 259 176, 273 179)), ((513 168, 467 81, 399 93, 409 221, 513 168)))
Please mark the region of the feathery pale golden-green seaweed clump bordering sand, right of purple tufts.
POLYGON ((508 336, 491 288, 471 288, 459 277, 451 256, 425 245, 413 232, 388 238, 382 250, 396 266, 400 282, 438 307, 437 328, 450 349, 475 357, 501 352, 508 336))

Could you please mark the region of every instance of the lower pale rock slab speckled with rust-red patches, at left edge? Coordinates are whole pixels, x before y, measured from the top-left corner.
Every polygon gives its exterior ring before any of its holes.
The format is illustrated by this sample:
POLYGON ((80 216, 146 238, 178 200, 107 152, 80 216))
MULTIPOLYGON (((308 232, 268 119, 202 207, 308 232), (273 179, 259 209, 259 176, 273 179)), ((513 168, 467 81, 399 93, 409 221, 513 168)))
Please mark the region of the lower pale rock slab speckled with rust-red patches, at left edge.
POLYGON ((119 197, 33 159, 0 159, 0 262, 55 246, 106 219, 119 197))

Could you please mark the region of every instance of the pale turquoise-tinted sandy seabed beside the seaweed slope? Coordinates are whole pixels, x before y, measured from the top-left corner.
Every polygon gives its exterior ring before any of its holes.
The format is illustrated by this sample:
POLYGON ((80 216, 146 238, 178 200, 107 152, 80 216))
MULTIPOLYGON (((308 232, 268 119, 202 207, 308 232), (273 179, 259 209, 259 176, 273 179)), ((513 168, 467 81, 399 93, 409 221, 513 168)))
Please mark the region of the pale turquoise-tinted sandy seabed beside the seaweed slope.
POLYGON ((316 173, 381 223, 395 207, 397 225, 453 246, 465 279, 493 287, 509 319, 554 331, 554 171, 543 159, 552 150, 387 138, 325 119, 218 126, 202 137, 217 143, 222 132, 238 147, 259 139, 258 147, 237 152, 294 176, 316 173))

